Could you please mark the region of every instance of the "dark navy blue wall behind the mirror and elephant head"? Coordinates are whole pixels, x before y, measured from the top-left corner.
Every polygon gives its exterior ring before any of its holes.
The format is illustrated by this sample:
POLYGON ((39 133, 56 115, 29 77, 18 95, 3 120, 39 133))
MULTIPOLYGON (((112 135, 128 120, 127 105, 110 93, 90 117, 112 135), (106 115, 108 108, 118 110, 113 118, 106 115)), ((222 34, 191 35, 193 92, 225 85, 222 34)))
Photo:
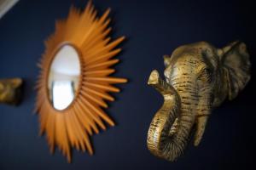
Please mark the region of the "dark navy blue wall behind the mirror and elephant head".
MULTIPOLYGON (((146 85, 150 71, 163 71, 163 54, 177 46, 205 40, 217 47, 240 39, 255 64, 253 3, 242 1, 94 1, 101 12, 113 9, 113 37, 125 35, 115 76, 130 82, 110 105, 116 127, 92 137, 96 154, 73 151, 67 164, 57 150, 50 156, 45 137, 38 137, 38 116, 32 114, 38 75, 36 63, 44 39, 54 31, 71 4, 82 0, 21 0, 0 20, 0 78, 23 77, 25 95, 19 107, 0 105, 0 169, 248 169, 255 153, 255 84, 253 79, 234 101, 226 102, 207 124, 199 147, 189 144, 185 156, 168 162, 152 156, 146 146, 148 126, 162 99, 146 85), (254 100, 254 101, 253 101, 254 100)), ((255 66, 255 65, 253 65, 255 66)))

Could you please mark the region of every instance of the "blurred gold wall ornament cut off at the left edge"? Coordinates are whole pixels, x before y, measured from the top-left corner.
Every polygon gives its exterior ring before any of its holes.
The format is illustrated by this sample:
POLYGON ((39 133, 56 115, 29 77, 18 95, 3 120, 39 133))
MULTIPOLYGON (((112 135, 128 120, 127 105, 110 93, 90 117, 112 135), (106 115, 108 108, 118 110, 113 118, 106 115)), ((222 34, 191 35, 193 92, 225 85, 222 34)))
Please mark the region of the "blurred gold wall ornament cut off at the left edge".
POLYGON ((0 102, 17 105, 20 102, 21 85, 20 78, 0 80, 0 102))

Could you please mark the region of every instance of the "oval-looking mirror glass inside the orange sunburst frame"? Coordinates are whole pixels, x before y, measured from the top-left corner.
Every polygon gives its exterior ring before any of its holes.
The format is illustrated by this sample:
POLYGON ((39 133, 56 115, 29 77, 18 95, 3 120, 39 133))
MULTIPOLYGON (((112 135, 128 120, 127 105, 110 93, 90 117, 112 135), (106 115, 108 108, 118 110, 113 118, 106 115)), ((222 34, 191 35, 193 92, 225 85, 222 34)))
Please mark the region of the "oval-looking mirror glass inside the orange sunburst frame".
POLYGON ((55 54, 48 77, 49 101, 56 110, 64 110, 73 102, 80 77, 79 53, 72 45, 64 45, 55 54))

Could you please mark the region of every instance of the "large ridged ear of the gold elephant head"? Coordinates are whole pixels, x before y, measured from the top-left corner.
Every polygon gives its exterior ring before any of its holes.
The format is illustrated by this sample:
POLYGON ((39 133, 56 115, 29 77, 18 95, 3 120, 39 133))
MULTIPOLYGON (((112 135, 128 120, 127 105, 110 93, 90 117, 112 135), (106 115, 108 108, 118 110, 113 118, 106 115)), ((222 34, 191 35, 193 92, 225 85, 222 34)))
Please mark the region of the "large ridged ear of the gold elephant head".
POLYGON ((246 44, 237 41, 222 48, 221 62, 229 99, 234 99, 250 80, 251 63, 246 44))

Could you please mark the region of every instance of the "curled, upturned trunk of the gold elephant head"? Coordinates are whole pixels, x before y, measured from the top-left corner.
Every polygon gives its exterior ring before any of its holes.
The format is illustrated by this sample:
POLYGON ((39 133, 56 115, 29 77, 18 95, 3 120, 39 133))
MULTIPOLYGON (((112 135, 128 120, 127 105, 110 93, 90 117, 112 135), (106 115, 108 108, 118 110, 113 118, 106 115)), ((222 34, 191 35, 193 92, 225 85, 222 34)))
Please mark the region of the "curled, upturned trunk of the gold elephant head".
POLYGON ((151 73, 148 84, 156 88, 165 100, 150 124, 148 150, 167 161, 175 161, 188 143, 195 114, 186 103, 186 95, 177 94, 175 88, 160 79, 157 71, 151 73))

